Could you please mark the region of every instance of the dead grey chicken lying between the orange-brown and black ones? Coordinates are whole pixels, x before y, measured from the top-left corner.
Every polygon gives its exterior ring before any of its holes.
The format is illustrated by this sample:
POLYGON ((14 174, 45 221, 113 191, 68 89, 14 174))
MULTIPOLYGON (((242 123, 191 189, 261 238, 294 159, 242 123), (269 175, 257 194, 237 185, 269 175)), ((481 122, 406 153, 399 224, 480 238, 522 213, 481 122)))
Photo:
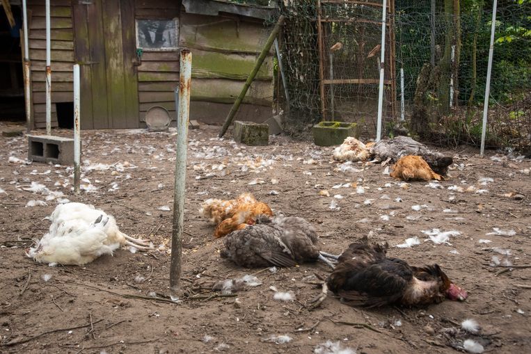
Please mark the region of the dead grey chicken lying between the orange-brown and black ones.
POLYGON ((228 234, 221 257, 244 267, 289 267, 304 262, 331 261, 317 246, 315 228, 296 216, 260 216, 256 223, 228 234))

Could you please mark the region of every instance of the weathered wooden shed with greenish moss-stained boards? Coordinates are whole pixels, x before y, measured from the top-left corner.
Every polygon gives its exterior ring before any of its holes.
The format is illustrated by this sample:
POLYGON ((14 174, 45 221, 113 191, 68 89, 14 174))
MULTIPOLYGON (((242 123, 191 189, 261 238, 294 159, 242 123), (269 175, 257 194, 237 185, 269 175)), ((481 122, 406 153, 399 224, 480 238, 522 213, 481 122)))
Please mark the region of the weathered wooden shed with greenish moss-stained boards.
MULTIPOLYGON (((10 1, 19 6, 20 1, 10 1)), ((72 127, 81 65, 81 128, 145 127, 153 106, 175 120, 179 52, 192 52, 191 119, 223 122, 267 38, 273 8, 221 0, 50 0, 51 124, 72 127)), ((45 127, 45 1, 27 0, 34 128, 45 127)), ((239 115, 271 116, 273 54, 239 115)))

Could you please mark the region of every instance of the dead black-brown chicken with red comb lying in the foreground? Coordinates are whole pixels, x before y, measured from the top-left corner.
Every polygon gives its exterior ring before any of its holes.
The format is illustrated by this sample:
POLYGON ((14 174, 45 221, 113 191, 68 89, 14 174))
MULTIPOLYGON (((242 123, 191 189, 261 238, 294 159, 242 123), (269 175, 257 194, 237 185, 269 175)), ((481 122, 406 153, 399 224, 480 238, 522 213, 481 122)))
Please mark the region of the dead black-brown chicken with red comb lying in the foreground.
POLYGON ((450 282, 437 264, 409 266, 402 259, 387 257, 386 250, 387 245, 369 243, 367 237, 351 243, 328 277, 328 288, 349 305, 367 307, 467 298, 466 291, 450 282))

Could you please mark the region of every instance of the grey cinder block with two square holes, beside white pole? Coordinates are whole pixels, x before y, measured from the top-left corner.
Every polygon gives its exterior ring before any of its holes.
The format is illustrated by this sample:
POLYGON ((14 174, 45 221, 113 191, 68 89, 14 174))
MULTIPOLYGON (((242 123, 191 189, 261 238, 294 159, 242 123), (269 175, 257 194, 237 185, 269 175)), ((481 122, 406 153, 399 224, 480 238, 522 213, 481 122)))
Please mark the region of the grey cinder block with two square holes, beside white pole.
POLYGON ((50 135, 28 136, 28 159, 72 165, 74 163, 74 139, 50 135))

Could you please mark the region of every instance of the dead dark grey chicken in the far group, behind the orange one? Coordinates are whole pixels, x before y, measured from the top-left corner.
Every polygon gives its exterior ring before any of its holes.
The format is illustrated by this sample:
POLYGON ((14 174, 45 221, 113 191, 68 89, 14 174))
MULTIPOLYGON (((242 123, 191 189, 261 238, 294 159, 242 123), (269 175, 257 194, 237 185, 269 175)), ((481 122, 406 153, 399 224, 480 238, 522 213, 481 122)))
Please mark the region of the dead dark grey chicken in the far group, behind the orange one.
POLYGON ((441 152, 429 150, 428 147, 408 136, 397 136, 393 139, 380 140, 370 148, 370 153, 380 161, 390 159, 397 162, 402 156, 422 156, 429 167, 439 175, 446 175, 448 166, 454 160, 450 156, 444 156, 441 152))

